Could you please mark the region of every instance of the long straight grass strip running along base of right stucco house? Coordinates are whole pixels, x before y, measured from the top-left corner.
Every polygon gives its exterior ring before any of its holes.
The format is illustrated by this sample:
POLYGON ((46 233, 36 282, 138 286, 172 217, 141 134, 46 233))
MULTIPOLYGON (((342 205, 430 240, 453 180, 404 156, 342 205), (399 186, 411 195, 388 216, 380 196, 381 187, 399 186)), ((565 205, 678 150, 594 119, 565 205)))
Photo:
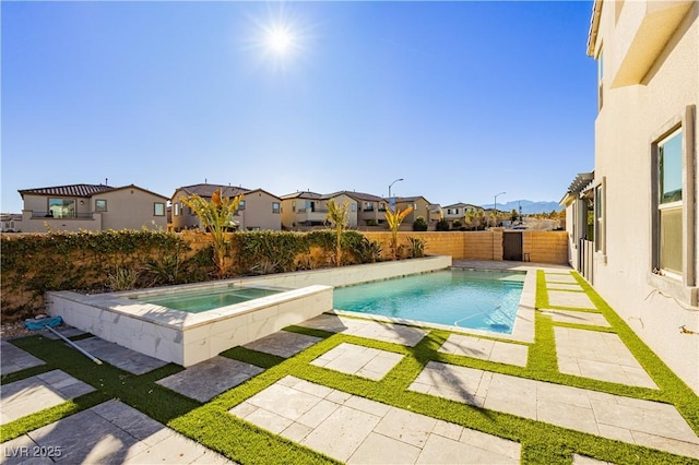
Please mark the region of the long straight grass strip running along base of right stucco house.
POLYGON ((581 276, 577 274, 573 276, 583 286, 588 297, 602 311, 609 324, 614 326, 619 338, 663 391, 667 402, 677 407, 689 426, 699 434, 699 396, 642 342, 624 319, 581 276))

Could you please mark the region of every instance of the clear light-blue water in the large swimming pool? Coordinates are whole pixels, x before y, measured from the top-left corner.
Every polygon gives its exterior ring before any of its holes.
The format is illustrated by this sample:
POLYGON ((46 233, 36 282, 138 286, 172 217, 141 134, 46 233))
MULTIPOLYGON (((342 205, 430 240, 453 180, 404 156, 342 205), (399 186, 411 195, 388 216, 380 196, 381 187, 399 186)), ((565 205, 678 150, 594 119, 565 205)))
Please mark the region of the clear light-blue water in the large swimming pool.
POLYGON ((333 307, 511 333, 525 273, 445 270, 334 289, 333 307))

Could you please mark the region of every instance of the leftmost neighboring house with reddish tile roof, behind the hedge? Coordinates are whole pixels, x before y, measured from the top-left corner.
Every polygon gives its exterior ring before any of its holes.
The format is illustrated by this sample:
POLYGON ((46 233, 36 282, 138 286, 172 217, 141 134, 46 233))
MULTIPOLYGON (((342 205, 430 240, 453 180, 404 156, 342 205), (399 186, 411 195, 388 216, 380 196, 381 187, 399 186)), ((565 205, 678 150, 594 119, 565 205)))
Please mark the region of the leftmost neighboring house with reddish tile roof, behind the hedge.
POLYGON ((134 184, 70 184, 20 190, 23 233, 167 229, 168 199, 134 184))

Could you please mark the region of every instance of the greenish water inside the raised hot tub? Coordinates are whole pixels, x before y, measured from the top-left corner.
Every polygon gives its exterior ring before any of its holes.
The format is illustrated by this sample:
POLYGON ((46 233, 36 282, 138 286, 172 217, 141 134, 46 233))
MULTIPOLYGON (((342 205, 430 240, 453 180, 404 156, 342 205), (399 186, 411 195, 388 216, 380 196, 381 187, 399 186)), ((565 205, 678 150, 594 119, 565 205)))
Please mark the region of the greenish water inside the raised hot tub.
POLYGON ((143 303, 155 303, 174 310, 199 313, 279 293, 281 293, 281 290, 260 289, 256 287, 223 287, 220 289, 186 290, 154 296, 145 295, 133 297, 133 299, 143 303))

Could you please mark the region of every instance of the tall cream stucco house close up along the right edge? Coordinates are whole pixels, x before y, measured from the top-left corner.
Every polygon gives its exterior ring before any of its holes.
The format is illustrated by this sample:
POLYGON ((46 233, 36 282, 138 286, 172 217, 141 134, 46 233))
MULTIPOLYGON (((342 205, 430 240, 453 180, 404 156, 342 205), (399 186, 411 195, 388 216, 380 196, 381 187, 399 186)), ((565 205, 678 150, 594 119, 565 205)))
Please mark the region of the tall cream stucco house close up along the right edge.
POLYGON ((690 0, 595 0, 588 40, 599 64, 590 279, 697 393, 698 17, 690 0))

